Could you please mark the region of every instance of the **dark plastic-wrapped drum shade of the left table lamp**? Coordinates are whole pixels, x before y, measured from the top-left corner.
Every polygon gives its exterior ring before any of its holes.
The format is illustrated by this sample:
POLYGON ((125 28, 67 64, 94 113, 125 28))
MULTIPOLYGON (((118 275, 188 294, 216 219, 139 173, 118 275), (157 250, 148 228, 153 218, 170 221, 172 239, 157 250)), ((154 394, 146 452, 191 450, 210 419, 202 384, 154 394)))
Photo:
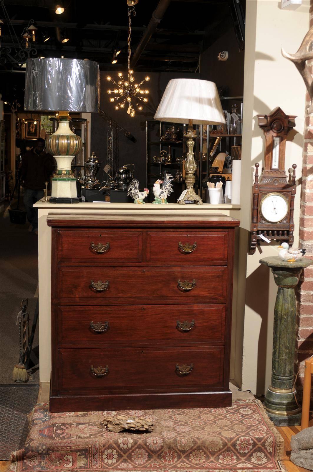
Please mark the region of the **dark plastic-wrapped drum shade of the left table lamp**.
POLYGON ((28 59, 24 110, 98 112, 97 62, 82 59, 28 59))

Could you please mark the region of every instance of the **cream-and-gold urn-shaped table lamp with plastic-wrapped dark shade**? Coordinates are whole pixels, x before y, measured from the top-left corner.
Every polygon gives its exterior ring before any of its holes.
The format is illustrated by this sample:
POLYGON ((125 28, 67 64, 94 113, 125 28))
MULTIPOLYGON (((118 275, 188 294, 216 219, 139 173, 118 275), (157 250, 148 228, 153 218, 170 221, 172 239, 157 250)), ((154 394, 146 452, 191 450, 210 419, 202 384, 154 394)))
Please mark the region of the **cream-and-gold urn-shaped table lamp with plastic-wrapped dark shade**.
POLYGON ((26 111, 58 112, 58 129, 46 139, 57 161, 52 177, 51 203, 78 202, 71 163, 82 139, 69 127, 69 112, 99 111, 100 74, 97 62, 80 59, 28 59, 25 77, 26 111))

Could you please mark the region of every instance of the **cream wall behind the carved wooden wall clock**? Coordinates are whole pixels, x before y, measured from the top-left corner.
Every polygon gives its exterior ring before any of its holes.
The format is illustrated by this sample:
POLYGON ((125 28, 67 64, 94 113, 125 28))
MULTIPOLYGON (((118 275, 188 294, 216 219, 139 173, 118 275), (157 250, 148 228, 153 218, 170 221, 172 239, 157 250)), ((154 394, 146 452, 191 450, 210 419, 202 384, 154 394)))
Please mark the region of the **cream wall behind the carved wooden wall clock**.
POLYGON ((259 260, 276 255, 277 249, 262 245, 254 255, 247 255, 254 165, 259 162, 261 168, 264 156, 264 135, 257 126, 256 115, 269 113, 277 106, 286 114, 297 115, 295 130, 288 135, 285 160, 286 170, 297 164, 294 213, 297 246, 305 85, 294 64, 284 59, 280 50, 283 47, 296 52, 308 25, 309 0, 303 0, 297 10, 280 9, 278 0, 247 0, 235 378, 242 389, 258 394, 263 394, 271 381, 277 293, 272 273, 259 260))

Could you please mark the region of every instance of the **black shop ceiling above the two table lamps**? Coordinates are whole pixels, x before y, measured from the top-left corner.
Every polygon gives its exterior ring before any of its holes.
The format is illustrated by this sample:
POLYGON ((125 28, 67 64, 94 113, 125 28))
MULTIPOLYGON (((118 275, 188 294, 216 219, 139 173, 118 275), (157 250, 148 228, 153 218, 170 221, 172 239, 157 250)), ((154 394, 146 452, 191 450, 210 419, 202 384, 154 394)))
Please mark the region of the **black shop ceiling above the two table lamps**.
MULTIPOLYGON (((142 39, 154 10, 160 0, 139 0, 135 6, 136 16, 132 17, 132 54, 142 39)), ((162 2, 162 0, 161 0, 162 2)), ((17 46, 15 36, 5 19, 1 3, 8 12, 18 41, 33 19, 37 56, 90 59, 99 62, 102 70, 117 70, 127 64, 128 7, 126 0, 65 0, 65 11, 55 14, 52 0, 5 0, 0 1, 2 59, 6 47, 14 55, 17 46), (43 42, 43 34, 50 36, 43 42), (62 34, 69 41, 62 43, 62 34), (114 50, 122 49, 118 62, 111 64, 114 50)), ((235 27, 238 32, 238 18, 235 6, 237 0, 172 0, 165 8, 164 16, 157 29, 145 45, 136 64, 136 69, 145 71, 190 71, 198 68, 199 55, 226 29, 235 27)), ((244 7, 244 0, 239 3, 244 7)), ((238 11, 237 11, 238 13, 238 11)), ((243 47, 243 44, 240 45, 243 47)), ((6 60, 3 69, 16 69, 12 61, 6 60)))

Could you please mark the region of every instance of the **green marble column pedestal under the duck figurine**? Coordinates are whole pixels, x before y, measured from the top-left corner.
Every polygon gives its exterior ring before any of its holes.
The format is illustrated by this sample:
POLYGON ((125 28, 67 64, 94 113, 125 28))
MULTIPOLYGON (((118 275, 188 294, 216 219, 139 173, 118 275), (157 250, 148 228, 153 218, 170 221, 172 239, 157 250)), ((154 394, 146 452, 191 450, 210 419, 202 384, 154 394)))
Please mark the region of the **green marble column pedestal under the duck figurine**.
POLYGON ((278 285, 274 308, 272 381, 265 394, 264 406, 276 426, 298 425, 301 424, 301 410, 292 392, 296 343, 295 287, 302 270, 313 261, 303 258, 287 262, 277 256, 264 257, 260 262, 272 268, 278 285))

